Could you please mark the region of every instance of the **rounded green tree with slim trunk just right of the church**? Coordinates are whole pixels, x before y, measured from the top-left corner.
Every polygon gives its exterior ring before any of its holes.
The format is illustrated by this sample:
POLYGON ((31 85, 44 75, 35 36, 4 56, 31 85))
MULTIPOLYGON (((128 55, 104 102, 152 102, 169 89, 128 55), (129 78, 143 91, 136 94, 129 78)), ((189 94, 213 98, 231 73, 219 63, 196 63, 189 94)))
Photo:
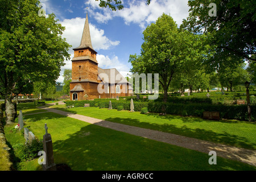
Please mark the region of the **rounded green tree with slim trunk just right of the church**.
POLYGON ((163 101, 175 72, 189 68, 203 55, 200 35, 179 30, 171 16, 163 14, 143 32, 141 55, 130 56, 133 73, 159 73, 163 101))

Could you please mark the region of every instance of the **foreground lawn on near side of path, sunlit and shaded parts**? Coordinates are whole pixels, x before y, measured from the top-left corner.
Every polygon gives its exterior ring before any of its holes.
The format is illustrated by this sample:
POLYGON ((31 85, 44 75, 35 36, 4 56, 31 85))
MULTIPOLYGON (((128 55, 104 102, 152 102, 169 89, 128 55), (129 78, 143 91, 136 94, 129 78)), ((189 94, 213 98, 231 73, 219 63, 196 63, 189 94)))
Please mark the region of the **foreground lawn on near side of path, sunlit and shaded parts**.
MULTIPOLYGON (((104 127, 90 125, 55 113, 27 115, 24 127, 42 139, 44 123, 52 135, 55 163, 66 163, 73 170, 256 170, 245 163, 217 157, 217 165, 208 163, 201 152, 104 127)), ((8 142, 24 142, 20 133, 5 126, 8 142)), ((37 159, 19 164, 20 170, 40 170, 37 159)))

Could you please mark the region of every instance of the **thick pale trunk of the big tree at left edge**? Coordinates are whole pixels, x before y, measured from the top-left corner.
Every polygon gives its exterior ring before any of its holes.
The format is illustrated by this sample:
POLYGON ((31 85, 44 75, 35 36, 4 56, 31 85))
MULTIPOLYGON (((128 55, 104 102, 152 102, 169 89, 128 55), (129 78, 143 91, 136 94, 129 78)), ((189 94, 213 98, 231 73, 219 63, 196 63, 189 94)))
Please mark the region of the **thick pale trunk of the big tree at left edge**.
POLYGON ((15 106, 11 101, 11 95, 5 98, 5 115, 7 125, 14 122, 16 111, 15 106))

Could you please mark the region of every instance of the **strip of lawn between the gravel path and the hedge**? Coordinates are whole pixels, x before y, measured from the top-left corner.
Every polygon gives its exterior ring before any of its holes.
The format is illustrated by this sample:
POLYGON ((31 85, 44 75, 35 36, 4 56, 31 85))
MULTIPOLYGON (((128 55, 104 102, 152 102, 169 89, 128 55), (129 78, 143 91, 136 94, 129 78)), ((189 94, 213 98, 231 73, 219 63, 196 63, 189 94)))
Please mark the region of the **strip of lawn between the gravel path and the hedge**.
POLYGON ((54 107, 106 121, 256 150, 256 125, 246 121, 209 121, 198 117, 130 113, 126 110, 117 111, 115 109, 99 109, 98 107, 76 107, 71 109, 60 108, 64 106, 54 107))

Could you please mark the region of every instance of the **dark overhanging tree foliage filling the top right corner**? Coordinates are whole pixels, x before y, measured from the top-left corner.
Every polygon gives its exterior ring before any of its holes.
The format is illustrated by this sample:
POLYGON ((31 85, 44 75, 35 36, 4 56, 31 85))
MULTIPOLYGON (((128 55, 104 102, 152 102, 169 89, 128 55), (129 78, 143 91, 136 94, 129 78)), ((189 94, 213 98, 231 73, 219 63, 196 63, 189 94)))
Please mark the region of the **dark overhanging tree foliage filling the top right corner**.
MULTIPOLYGON (((217 67, 225 57, 232 56, 240 57, 239 60, 255 61, 255 57, 250 57, 255 55, 255 1, 189 0, 188 5, 191 7, 189 16, 183 20, 181 27, 208 35, 209 42, 216 51, 210 64, 217 67), (209 6, 210 3, 216 4, 216 16, 209 15, 209 11, 213 9, 209 6)), ((237 60, 230 61, 234 63, 237 60)))

